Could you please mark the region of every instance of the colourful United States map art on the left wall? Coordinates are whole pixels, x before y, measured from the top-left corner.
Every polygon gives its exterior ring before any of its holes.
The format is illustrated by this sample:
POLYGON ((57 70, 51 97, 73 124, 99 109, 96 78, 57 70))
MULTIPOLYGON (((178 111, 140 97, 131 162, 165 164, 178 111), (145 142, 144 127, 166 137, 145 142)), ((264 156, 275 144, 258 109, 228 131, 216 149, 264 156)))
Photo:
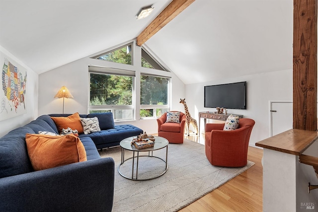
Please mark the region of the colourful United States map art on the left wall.
POLYGON ((0 121, 26 113, 26 69, 0 52, 0 121))

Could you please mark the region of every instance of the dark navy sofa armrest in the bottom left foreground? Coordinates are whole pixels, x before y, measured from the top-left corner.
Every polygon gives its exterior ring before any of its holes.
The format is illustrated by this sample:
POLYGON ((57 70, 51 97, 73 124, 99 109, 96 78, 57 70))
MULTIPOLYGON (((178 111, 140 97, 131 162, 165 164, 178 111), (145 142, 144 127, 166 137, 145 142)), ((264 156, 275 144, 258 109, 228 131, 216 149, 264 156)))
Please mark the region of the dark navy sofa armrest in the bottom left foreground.
POLYGON ((110 212, 114 160, 99 158, 0 179, 0 211, 110 212))

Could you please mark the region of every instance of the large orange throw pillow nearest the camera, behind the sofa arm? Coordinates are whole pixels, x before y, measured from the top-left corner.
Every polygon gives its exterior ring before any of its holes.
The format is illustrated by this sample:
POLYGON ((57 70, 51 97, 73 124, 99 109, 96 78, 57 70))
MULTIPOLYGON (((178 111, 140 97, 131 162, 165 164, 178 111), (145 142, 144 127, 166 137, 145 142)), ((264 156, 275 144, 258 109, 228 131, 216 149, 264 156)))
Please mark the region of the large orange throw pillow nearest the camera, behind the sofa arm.
POLYGON ((35 171, 87 160, 84 145, 74 135, 26 134, 25 141, 35 171))

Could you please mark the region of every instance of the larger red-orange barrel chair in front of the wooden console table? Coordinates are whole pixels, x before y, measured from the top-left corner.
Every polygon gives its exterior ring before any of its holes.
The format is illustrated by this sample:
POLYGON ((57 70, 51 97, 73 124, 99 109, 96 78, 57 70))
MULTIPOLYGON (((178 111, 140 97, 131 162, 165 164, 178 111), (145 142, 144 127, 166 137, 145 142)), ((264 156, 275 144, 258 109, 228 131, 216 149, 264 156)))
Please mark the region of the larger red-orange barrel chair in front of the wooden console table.
POLYGON ((239 119, 239 128, 223 131, 225 124, 206 124, 205 154, 214 166, 241 167, 247 164, 249 137, 255 121, 239 119))

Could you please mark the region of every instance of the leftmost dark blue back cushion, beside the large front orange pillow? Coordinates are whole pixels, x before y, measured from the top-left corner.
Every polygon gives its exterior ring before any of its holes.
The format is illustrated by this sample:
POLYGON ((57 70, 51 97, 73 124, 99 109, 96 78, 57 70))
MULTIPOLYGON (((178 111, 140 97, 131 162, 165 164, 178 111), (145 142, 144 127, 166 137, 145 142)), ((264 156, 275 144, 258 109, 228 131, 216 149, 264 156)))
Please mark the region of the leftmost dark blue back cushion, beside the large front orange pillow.
POLYGON ((0 178, 34 171, 26 149, 27 133, 34 131, 20 127, 0 138, 0 178))

